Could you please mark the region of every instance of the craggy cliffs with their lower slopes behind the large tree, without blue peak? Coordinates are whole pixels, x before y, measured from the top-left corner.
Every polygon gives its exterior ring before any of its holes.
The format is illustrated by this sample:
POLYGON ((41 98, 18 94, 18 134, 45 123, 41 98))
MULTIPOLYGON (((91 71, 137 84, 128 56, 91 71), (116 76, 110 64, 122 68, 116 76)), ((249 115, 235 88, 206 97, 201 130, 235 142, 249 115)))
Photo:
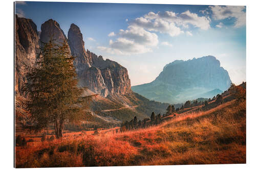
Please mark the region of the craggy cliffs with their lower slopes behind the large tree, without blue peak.
POLYGON ((28 82, 29 67, 35 67, 44 43, 52 37, 57 43, 67 40, 71 54, 76 57, 74 65, 78 76, 78 86, 83 95, 93 95, 90 110, 84 111, 89 117, 87 123, 120 124, 134 116, 143 119, 152 111, 165 113, 167 103, 150 101, 131 90, 128 71, 115 61, 85 50, 82 33, 78 26, 71 24, 68 37, 57 21, 49 19, 42 23, 41 31, 31 19, 15 16, 15 111, 18 119, 26 119, 26 110, 20 103, 27 100, 22 92, 28 82))

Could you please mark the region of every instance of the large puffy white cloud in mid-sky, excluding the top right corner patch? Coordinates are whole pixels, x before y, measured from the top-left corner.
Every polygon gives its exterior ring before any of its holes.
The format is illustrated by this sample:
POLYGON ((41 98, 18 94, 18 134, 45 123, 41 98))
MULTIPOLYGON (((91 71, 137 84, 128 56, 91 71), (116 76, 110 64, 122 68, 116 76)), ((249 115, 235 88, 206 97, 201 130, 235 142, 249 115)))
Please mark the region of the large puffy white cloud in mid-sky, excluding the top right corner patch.
MULTIPOLYGON (((126 30, 119 30, 118 33, 111 32, 108 36, 118 36, 115 40, 109 41, 109 47, 98 46, 99 50, 111 54, 140 54, 152 52, 152 47, 157 47, 158 36, 156 33, 168 34, 171 37, 183 34, 181 28, 188 28, 189 25, 207 30, 210 28, 210 18, 198 16, 196 13, 185 11, 181 14, 164 11, 149 12, 144 16, 133 20, 126 19, 128 27, 126 30)), ((186 31, 188 36, 193 34, 186 31)), ((172 46, 168 42, 162 42, 162 45, 172 46)))

